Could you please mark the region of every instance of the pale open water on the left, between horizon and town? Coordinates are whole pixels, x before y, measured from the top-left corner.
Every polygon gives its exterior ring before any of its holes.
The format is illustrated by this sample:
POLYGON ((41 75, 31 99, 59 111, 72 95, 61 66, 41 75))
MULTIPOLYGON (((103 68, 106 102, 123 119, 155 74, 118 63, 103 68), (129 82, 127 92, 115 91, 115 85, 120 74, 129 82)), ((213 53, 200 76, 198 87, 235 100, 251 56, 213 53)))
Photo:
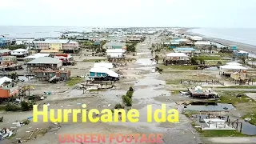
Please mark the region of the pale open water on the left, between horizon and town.
POLYGON ((58 38, 64 31, 88 31, 90 27, 71 26, 0 26, 0 35, 8 38, 58 38))

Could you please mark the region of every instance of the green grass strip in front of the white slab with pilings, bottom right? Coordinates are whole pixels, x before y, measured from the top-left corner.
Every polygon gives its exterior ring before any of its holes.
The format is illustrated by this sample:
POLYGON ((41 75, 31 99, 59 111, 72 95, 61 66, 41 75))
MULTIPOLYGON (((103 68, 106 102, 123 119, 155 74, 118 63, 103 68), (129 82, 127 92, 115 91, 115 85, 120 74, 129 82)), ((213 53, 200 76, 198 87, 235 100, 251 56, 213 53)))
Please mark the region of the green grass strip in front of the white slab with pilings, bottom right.
POLYGON ((201 130, 196 128, 198 133, 203 137, 250 137, 250 135, 242 134, 237 130, 201 130))

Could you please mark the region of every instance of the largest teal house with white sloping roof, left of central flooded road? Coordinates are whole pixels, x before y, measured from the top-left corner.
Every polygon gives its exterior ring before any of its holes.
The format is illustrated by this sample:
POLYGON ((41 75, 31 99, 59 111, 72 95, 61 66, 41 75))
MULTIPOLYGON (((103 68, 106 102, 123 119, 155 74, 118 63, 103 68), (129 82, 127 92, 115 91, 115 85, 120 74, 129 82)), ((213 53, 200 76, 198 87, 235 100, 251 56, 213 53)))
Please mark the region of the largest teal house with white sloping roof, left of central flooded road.
POLYGON ((106 67, 94 67, 90 69, 89 78, 96 81, 117 81, 119 80, 119 74, 106 67))

